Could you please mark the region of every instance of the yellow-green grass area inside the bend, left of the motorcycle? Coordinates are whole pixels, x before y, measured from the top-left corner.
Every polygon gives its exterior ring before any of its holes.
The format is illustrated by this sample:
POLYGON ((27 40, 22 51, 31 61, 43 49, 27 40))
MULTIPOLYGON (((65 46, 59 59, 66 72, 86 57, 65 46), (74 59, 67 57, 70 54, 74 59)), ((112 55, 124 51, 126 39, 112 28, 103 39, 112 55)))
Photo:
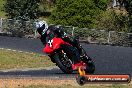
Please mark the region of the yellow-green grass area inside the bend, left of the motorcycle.
POLYGON ((0 49, 0 70, 49 67, 53 65, 47 56, 0 49))

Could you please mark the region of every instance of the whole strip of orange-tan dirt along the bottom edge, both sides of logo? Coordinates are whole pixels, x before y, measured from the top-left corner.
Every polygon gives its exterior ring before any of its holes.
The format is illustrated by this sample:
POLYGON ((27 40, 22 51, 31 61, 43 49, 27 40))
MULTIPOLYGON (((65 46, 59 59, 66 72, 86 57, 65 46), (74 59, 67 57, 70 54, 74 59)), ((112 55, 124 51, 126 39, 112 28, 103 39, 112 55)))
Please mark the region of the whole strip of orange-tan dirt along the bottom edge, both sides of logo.
MULTIPOLYGON (((43 79, 43 78, 11 78, 11 79, 0 79, 0 88, 25 88, 30 85, 43 85, 43 86, 68 86, 72 88, 79 87, 76 80, 74 79, 43 79)), ((83 88, 116 88, 113 87, 115 84, 87 84, 83 88)), ((118 85, 118 88, 132 88, 132 82, 130 84, 118 85), (124 87, 122 87, 124 86, 124 87)), ((33 87, 34 88, 34 87, 33 87)), ((37 87, 35 87, 37 88, 37 87)), ((45 88, 45 87, 41 87, 45 88)))

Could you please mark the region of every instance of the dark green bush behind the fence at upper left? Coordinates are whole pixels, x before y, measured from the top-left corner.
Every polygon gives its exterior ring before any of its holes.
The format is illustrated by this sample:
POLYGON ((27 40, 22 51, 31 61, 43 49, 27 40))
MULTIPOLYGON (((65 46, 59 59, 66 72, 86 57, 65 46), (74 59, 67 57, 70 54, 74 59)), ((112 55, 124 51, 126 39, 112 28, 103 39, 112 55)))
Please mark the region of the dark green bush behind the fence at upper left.
POLYGON ((11 19, 36 19, 38 18, 39 2, 39 0, 7 0, 6 15, 11 19))

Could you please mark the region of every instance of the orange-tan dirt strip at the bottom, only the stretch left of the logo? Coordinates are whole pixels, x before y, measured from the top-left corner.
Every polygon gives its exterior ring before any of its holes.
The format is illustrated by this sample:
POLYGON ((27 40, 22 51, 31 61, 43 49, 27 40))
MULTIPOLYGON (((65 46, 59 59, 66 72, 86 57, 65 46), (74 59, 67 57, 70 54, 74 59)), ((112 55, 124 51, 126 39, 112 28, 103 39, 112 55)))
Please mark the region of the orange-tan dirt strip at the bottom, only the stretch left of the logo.
POLYGON ((0 88, 19 88, 29 85, 77 85, 75 80, 69 79, 0 79, 0 88))

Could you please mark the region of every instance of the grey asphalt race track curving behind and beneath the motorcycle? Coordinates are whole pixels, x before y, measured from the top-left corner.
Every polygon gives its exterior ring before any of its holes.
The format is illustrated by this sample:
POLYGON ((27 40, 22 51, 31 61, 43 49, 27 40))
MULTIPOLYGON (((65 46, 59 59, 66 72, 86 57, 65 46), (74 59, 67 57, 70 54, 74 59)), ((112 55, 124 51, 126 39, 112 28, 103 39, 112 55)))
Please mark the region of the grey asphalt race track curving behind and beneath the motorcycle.
MULTIPOLYGON (((130 74, 132 76, 132 48, 106 45, 82 44, 96 65, 95 74, 130 74)), ((0 36, 0 48, 15 49, 43 54, 43 45, 39 39, 26 39, 0 36)), ((28 71, 0 71, 1 76, 56 76, 66 77, 57 67, 28 71)), ((70 75, 74 77, 75 74, 70 75)))

